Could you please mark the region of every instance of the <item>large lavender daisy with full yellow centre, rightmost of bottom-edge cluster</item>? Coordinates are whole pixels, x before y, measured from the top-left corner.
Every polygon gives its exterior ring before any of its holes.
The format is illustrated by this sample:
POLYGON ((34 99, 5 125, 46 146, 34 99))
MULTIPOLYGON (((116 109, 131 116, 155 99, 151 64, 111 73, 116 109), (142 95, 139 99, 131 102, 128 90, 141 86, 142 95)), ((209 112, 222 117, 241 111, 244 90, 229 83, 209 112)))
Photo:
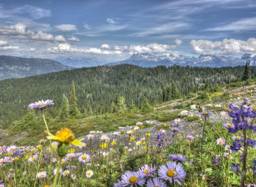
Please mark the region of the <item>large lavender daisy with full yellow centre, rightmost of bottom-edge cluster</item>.
POLYGON ((170 183, 174 180, 174 182, 181 185, 180 181, 186 177, 186 172, 180 163, 169 161, 167 162, 167 167, 166 165, 160 166, 158 169, 158 175, 160 178, 170 181, 170 183))

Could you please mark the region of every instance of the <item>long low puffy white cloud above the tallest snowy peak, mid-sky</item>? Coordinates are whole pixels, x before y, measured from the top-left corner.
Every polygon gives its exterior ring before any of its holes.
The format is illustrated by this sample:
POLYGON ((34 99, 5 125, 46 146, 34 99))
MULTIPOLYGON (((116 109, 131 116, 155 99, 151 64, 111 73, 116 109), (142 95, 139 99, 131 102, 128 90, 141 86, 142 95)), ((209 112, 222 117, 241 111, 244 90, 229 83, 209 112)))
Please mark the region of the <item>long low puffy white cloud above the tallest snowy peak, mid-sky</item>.
POLYGON ((106 50, 124 51, 124 52, 129 52, 130 54, 144 53, 144 52, 157 54, 157 53, 170 52, 170 49, 176 48, 176 46, 170 46, 165 44, 110 46, 108 44, 102 44, 100 48, 106 49, 106 50))

